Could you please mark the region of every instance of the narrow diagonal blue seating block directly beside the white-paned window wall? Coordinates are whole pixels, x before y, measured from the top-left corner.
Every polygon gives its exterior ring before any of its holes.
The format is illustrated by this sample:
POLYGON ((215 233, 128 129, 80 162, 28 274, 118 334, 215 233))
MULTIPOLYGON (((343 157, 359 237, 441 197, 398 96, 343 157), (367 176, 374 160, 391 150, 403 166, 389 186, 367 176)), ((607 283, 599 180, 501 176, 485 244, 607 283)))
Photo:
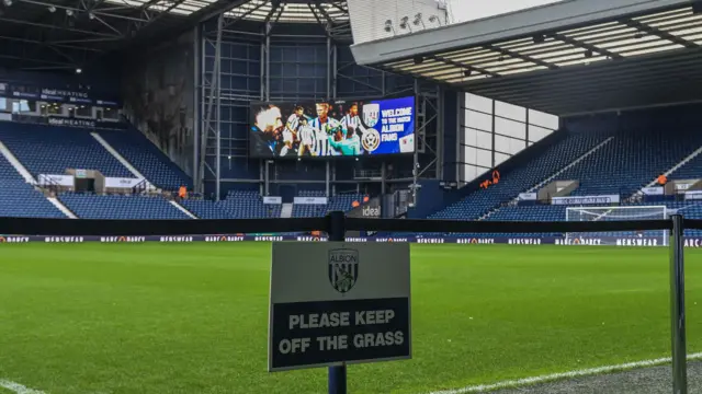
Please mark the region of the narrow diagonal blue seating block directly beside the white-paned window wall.
MULTIPOLYGON (((605 134, 571 135, 546 149, 529 164, 502 174, 500 183, 486 190, 473 193, 467 198, 430 216, 433 219, 477 219, 490 209, 517 197, 568 165, 598 143, 604 141, 605 134)), ((611 143, 611 141, 610 141, 611 143)))

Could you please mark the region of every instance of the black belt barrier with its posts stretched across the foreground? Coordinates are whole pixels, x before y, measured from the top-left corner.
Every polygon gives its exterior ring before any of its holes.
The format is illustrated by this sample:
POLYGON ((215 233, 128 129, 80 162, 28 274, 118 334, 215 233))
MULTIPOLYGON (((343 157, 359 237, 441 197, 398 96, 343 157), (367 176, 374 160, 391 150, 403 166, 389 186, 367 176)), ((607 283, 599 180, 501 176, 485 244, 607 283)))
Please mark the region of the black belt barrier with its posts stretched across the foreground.
MULTIPOLYGON (((0 234, 56 236, 211 235, 324 230, 329 241, 343 241, 347 231, 431 233, 585 233, 670 231, 670 320, 673 394, 687 394, 683 231, 702 230, 702 220, 675 215, 665 220, 500 222, 427 219, 362 219, 331 212, 324 218, 224 220, 94 220, 0 218, 0 234)), ((347 366, 329 367, 329 393, 347 393, 347 366)))

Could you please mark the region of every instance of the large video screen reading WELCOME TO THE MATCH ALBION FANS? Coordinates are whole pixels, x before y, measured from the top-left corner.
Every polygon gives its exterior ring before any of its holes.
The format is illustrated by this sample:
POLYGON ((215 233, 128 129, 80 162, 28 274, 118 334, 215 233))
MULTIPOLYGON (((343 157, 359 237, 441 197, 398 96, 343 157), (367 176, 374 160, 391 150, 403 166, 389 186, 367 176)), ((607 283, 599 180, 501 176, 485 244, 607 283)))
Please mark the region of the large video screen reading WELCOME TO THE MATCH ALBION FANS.
POLYGON ((252 158, 333 158, 415 152, 415 97, 253 103, 252 158))

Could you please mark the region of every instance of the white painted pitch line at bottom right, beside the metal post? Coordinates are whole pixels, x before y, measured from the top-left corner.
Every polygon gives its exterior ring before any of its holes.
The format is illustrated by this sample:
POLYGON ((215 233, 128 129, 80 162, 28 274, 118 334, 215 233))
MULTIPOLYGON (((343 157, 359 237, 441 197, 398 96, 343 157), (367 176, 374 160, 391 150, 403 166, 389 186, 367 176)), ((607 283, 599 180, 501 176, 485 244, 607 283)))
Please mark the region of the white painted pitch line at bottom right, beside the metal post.
MULTIPOLYGON (((697 360, 697 359, 702 359, 702 352, 688 355, 688 360, 697 360)), ((670 361, 671 361, 671 358, 669 357, 653 359, 653 360, 643 360, 643 361, 627 362, 619 366, 589 368, 589 369, 575 370, 570 372, 561 372, 561 373, 552 373, 552 374, 541 375, 541 376, 509 380, 509 381, 503 381, 503 382, 498 382, 492 384, 480 384, 480 385, 465 386, 462 389, 437 391, 437 392, 431 392, 429 394, 483 393, 483 392, 490 392, 490 391, 500 390, 500 389, 514 389, 519 386, 547 383, 547 382, 564 380, 564 379, 582 378, 582 376, 590 376, 590 375, 597 375, 602 373, 620 372, 620 371, 626 371, 626 370, 645 368, 645 367, 664 366, 666 363, 669 363, 670 361)))

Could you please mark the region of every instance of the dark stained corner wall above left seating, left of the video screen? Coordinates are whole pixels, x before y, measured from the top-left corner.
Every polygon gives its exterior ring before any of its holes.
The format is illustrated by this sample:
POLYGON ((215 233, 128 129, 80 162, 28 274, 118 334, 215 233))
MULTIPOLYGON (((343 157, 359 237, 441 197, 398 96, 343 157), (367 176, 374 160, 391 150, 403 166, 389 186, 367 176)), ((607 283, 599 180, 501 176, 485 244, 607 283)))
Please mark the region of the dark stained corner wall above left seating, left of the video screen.
POLYGON ((188 175, 194 165, 192 33, 132 56, 123 66, 124 114, 188 175))

